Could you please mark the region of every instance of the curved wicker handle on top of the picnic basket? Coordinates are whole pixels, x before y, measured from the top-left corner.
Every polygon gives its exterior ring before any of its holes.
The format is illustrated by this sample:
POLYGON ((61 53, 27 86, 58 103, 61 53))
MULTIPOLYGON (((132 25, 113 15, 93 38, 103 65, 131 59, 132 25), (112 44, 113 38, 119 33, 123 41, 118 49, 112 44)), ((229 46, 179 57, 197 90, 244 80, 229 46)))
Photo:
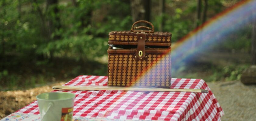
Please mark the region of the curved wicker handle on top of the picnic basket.
POLYGON ((136 21, 133 23, 132 25, 132 28, 131 28, 131 31, 132 32, 148 32, 148 33, 154 33, 154 25, 151 23, 151 22, 148 22, 148 21, 145 21, 145 20, 140 20, 140 21, 136 21), (149 25, 152 26, 152 28, 149 28, 149 27, 146 27, 146 26, 138 26, 138 27, 134 27, 134 25, 136 25, 137 23, 140 23, 140 22, 143 22, 143 23, 147 23, 149 25), (140 29, 140 28, 145 28, 145 29, 148 29, 148 30, 135 30, 135 29, 140 29))

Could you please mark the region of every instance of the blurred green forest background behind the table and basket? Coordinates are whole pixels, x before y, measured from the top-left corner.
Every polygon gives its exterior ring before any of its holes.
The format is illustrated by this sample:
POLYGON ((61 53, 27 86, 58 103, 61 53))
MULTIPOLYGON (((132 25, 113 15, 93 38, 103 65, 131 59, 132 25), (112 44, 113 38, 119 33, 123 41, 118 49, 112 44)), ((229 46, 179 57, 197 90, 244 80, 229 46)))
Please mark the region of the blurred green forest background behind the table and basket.
MULTIPOLYGON (((172 43, 240 0, 1 0, 0 89, 17 90, 107 75, 108 33, 137 20, 172 33, 172 43)), ((240 80, 251 64, 252 23, 173 72, 172 77, 240 80), (211 55, 211 56, 209 56, 211 55), (215 58, 219 59, 216 60, 215 58)))

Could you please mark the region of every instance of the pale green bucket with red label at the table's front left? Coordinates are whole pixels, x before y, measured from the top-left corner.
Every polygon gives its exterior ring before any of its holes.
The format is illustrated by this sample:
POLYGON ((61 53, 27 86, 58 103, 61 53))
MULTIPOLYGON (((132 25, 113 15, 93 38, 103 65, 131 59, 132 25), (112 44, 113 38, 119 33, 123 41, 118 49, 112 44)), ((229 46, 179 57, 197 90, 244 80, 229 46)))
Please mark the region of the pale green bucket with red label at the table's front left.
POLYGON ((75 96, 65 92, 37 95, 41 121, 72 121, 75 96))

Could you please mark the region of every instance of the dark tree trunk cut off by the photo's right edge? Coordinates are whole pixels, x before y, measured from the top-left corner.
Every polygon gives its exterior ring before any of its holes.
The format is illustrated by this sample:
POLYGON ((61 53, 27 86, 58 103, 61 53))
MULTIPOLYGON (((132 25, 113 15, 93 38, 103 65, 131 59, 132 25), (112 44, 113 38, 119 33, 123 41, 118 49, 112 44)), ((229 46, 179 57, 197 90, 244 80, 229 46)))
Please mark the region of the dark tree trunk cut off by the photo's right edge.
MULTIPOLYGON (((256 8, 254 8, 254 15, 256 15, 256 8)), ((252 40, 251 40, 251 64, 256 64, 256 18, 254 17, 252 26, 252 40)))

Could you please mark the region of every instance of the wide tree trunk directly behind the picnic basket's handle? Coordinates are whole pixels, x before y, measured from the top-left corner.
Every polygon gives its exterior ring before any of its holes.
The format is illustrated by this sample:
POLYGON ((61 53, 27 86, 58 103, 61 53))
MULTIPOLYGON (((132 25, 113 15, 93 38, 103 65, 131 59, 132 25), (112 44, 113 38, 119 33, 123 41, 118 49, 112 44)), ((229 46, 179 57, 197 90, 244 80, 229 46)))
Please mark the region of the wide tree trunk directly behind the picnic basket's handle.
POLYGON ((133 22, 138 20, 150 21, 151 0, 131 0, 131 15, 133 22))

